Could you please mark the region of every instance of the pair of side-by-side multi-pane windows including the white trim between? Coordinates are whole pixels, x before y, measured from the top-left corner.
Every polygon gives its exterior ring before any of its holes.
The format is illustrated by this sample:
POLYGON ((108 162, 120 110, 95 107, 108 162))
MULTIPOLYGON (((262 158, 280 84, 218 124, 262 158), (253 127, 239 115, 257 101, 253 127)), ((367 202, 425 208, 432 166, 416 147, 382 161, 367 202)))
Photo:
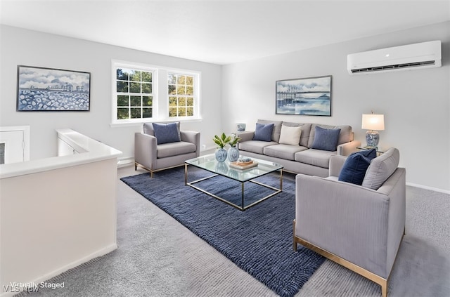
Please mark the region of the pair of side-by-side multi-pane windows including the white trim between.
POLYGON ((200 119, 199 72, 114 60, 112 65, 113 124, 200 119))

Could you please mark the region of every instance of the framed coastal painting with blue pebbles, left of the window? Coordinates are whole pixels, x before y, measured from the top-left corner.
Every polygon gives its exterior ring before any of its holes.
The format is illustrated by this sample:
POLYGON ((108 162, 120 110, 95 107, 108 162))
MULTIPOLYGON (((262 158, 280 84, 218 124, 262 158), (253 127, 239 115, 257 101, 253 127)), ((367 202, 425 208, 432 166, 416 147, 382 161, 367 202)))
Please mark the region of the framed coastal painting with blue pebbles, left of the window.
POLYGON ((18 65, 19 112, 89 111, 91 74, 18 65))

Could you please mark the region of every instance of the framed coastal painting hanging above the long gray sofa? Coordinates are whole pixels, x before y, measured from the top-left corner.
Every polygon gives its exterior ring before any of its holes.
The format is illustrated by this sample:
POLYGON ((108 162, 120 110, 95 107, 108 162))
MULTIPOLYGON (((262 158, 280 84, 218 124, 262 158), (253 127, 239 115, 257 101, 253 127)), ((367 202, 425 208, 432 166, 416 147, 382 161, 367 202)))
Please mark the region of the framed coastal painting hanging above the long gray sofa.
POLYGON ((331 117, 331 75, 276 81, 276 114, 331 117))

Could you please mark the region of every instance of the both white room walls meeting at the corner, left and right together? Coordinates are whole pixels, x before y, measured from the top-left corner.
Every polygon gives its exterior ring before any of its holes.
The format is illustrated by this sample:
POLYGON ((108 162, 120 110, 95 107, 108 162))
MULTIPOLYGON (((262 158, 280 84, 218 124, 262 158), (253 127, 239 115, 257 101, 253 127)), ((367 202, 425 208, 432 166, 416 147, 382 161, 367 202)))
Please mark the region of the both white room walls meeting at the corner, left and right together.
MULTIPOLYGON (((258 118, 350 124, 365 143, 361 114, 385 114, 380 147, 398 147, 410 184, 450 190, 450 22, 367 37, 221 67, 1 25, 0 126, 31 126, 31 159, 56 156, 58 128, 73 128, 133 156, 140 126, 111 128, 110 60, 130 60, 202 72, 203 121, 181 124, 202 133, 202 144, 236 121, 258 118), (442 40, 443 67, 349 76, 347 54, 442 40), (91 72, 90 112, 16 112, 17 65, 91 72), (275 114, 275 81, 333 76, 332 117, 275 114)), ((330 34, 333 34, 330 29, 330 34)))

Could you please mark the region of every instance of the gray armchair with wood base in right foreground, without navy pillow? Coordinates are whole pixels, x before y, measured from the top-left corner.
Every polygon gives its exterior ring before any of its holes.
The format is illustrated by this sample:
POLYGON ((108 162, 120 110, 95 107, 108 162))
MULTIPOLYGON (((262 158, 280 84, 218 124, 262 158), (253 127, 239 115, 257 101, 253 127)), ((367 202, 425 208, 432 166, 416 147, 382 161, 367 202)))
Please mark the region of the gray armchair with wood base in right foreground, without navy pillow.
POLYGON ((372 159, 362 185, 338 180, 346 157, 330 159, 330 176, 296 176, 297 244, 380 284, 387 284, 405 231, 406 170, 390 148, 372 159))

